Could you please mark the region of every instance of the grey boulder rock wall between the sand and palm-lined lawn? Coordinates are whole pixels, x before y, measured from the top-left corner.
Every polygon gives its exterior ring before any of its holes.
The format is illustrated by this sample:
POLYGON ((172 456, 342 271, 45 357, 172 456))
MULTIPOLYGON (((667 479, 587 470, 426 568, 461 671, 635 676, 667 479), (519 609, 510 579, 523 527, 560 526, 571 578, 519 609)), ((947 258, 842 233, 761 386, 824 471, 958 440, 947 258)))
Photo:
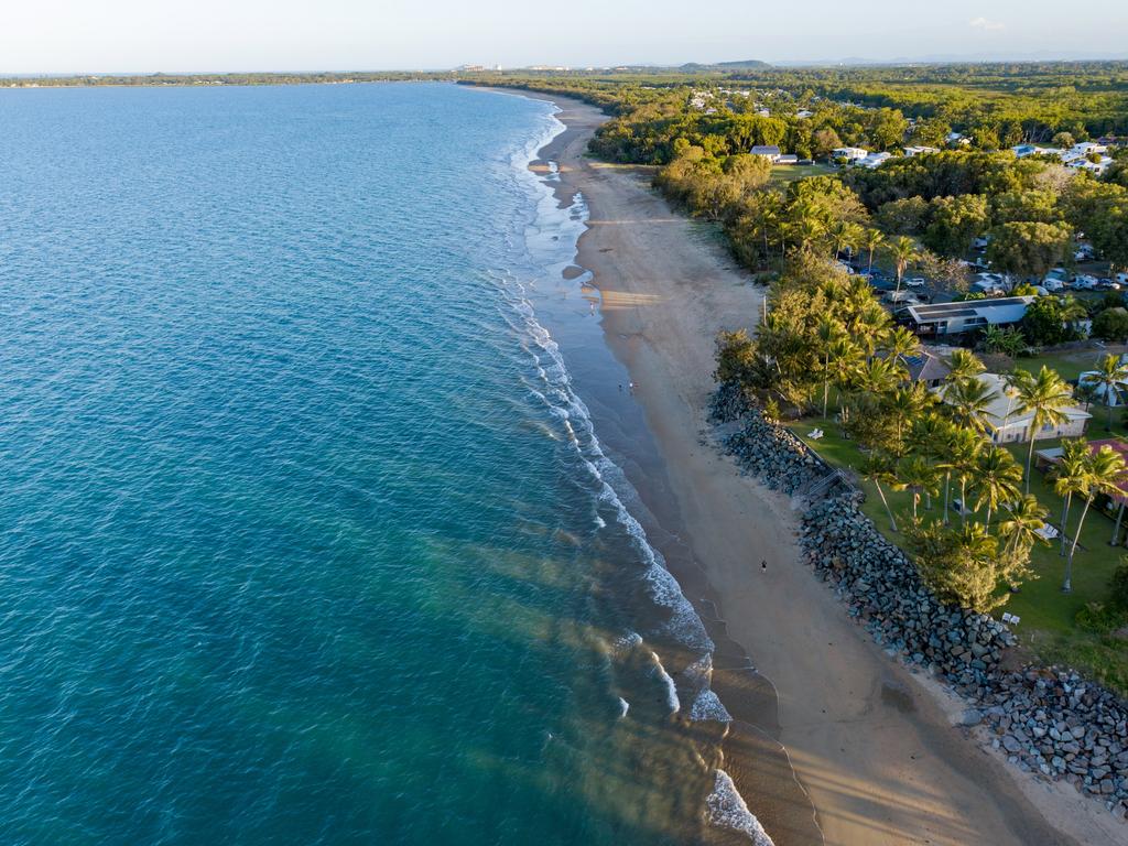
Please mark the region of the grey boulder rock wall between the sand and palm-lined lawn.
MULTIPOLYGON (((805 443, 766 421, 732 386, 717 389, 711 413, 716 423, 738 424, 724 449, 768 487, 791 495, 827 475, 805 443)), ((1003 669, 1014 635, 989 616, 941 602, 860 502, 853 488, 832 486, 807 509, 799 539, 847 613, 891 654, 945 679, 968 700, 963 724, 987 725, 1012 764, 1065 778, 1128 818, 1125 702, 1070 670, 1003 669)))

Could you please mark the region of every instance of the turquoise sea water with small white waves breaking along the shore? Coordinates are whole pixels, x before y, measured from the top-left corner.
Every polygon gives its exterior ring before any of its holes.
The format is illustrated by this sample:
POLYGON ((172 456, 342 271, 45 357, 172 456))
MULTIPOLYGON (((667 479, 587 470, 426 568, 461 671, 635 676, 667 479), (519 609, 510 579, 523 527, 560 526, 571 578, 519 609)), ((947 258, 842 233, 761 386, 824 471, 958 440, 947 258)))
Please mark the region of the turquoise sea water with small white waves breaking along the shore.
POLYGON ((0 841, 743 825, 537 319, 582 228, 525 168, 552 112, 0 91, 0 841))

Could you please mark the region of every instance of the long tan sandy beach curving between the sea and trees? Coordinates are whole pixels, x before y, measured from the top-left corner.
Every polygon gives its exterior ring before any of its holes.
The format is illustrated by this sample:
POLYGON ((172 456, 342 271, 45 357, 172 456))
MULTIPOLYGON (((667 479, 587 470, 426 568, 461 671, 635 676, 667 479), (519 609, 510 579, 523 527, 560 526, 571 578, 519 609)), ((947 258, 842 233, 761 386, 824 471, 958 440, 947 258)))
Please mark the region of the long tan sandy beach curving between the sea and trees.
POLYGON ((955 728, 961 703, 878 647, 800 561, 791 501, 706 442, 714 338, 755 326, 761 289, 645 174, 584 157, 598 109, 553 99, 567 130, 539 164, 557 162, 563 202, 580 192, 588 203, 578 264, 601 292, 607 342, 661 459, 625 468, 717 640, 714 687, 737 717, 725 767, 775 843, 1126 841, 1095 803, 955 728))

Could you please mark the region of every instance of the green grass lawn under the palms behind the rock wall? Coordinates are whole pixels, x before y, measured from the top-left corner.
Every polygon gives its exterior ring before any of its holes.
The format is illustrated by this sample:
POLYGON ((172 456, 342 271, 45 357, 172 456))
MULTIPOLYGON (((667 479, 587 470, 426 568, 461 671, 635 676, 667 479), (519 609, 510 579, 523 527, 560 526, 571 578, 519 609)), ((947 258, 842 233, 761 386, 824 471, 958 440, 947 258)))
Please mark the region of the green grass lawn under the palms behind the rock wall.
MULTIPOLYGON (((855 470, 863 460, 857 446, 841 437, 838 425, 832 420, 807 418, 791 423, 790 428, 836 467, 855 470), (821 429, 823 438, 811 441, 809 435, 813 429, 821 429)), ((1093 426, 1089 437, 1095 440, 1105 437, 1105 433, 1103 428, 1093 426)), ((1039 441, 1037 448, 1049 446, 1056 446, 1056 441, 1039 441)), ((1026 447, 1028 444, 1021 443, 1007 447, 1023 466, 1026 460, 1026 447)), ((874 484, 861 478, 856 472, 853 475, 865 493, 862 511, 891 543, 904 547, 905 536, 892 531, 874 484)), ((882 490, 898 526, 904 527, 911 519, 911 494, 907 491, 891 491, 888 485, 883 485, 882 490)), ((1057 526, 1061 517, 1061 499, 1054 493, 1043 475, 1037 469, 1032 474, 1030 492, 1049 511, 1047 521, 1057 526)), ((959 490, 954 486, 952 496, 953 499, 959 496, 959 490)), ((933 499, 931 511, 925 508, 922 500, 919 514, 925 520, 938 519, 942 515, 942 508, 938 497, 933 499)), ((1081 503, 1074 503, 1072 508, 1068 521, 1070 539, 1076 531, 1081 509, 1081 503)), ((1061 592, 1065 558, 1058 554, 1058 546, 1055 544, 1036 547, 1031 555, 1031 569, 1039 578, 1023 584, 1022 589, 1012 594, 1010 601, 996 611, 996 616, 1001 616, 1004 610, 1019 615, 1022 622, 1014 627, 1014 631, 1020 642, 1032 649, 1042 660, 1070 663, 1118 688, 1121 693, 1128 693, 1128 641, 1102 637, 1079 629, 1075 625, 1077 611, 1087 602, 1104 602, 1108 599, 1109 579, 1120 556, 1125 554, 1120 547, 1109 545, 1112 528, 1112 518, 1090 509, 1074 557, 1073 592, 1068 594, 1061 592)))

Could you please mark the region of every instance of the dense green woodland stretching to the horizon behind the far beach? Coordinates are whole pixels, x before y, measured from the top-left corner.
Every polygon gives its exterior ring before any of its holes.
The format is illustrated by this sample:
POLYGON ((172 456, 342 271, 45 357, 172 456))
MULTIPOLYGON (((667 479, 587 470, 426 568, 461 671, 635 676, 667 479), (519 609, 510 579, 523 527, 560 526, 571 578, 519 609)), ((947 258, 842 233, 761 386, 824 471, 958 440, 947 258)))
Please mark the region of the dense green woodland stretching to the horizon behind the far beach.
MULTIPOLYGON (((1078 233, 1112 270, 1128 266, 1128 153, 1099 180, 998 149, 1128 130, 1125 63, 513 72, 472 81, 605 108, 613 117, 592 152, 663 166, 655 185, 688 213, 720 222, 754 271, 778 273, 791 249, 862 252, 867 266, 893 268, 898 284, 916 268, 959 293, 968 284, 960 261, 973 257, 977 238, 989 239, 993 270, 1038 282, 1072 265, 1078 233), (757 146, 828 159, 843 144, 900 151, 910 143, 938 152, 895 156, 874 169, 823 166, 813 178, 788 178, 788 167, 772 171, 749 156, 757 146)), ((1102 332, 1116 336, 1114 323, 1102 318, 1102 332)))

